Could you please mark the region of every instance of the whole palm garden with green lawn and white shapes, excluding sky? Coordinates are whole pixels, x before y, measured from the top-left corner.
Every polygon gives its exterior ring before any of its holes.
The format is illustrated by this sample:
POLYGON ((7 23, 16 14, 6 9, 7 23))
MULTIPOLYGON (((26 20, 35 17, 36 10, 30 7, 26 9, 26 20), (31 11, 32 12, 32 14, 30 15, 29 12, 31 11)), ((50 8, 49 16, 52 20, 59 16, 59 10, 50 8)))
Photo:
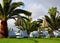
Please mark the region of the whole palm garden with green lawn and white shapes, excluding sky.
POLYGON ((0 42, 1 43, 59 43, 60 42, 60 12, 57 7, 51 7, 42 19, 32 20, 32 12, 17 9, 24 6, 23 2, 2 0, 0 4, 0 42), (25 16, 21 16, 25 15, 25 16), (8 28, 7 21, 15 20, 18 31, 8 28))

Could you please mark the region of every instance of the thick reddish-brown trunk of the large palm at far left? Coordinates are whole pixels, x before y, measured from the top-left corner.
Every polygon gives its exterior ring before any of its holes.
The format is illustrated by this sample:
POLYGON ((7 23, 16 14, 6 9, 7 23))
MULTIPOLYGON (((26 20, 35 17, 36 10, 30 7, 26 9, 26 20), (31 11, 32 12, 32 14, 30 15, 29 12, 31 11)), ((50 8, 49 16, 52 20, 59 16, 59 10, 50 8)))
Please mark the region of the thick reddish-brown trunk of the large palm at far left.
POLYGON ((0 38, 8 37, 7 20, 1 21, 0 38))

